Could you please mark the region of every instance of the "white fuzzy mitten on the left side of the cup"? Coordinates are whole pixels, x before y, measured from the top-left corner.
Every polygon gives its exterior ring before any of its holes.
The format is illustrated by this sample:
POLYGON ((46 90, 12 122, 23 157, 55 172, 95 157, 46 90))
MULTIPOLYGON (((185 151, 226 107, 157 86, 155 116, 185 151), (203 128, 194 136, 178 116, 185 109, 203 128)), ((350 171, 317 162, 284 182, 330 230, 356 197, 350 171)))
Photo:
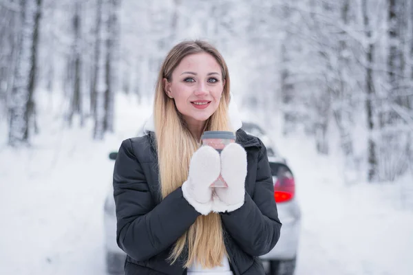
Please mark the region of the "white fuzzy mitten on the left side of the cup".
POLYGON ((202 146, 193 153, 182 194, 201 214, 207 215, 212 210, 212 188, 209 186, 218 178, 220 170, 220 154, 211 146, 202 146))

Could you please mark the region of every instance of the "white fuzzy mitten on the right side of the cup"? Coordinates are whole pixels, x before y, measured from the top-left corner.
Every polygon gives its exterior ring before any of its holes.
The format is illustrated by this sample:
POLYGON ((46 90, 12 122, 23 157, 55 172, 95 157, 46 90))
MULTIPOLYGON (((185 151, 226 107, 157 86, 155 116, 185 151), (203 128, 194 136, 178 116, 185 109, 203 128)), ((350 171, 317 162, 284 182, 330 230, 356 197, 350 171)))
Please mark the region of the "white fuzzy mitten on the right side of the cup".
POLYGON ((231 212, 244 204, 246 152, 240 144, 231 143, 221 152, 221 175, 227 188, 215 188, 213 212, 231 212))

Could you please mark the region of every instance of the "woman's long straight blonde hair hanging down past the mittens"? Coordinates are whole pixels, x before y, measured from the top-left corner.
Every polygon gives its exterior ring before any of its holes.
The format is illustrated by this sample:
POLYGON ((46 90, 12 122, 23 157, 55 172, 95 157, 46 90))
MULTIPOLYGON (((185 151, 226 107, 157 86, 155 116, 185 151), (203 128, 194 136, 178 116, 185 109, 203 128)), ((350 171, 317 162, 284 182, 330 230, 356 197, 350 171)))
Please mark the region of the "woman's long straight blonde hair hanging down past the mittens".
MULTIPOLYGON (((178 43, 162 63, 153 104, 159 179, 163 198, 187 180, 190 159, 200 147, 200 141, 196 140, 187 129, 186 123, 176 109, 175 102, 165 93, 163 79, 167 78, 169 82, 171 81, 173 70, 185 56, 205 52, 216 59, 222 69, 222 79, 225 80, 218 109, 207 120, 205 130, 233 131, 228 116, 229 72, 224 58, 215 47, 205 41, 178 43)), ((184 267, 191 266, 196 259, 202 267, 211 268, 220 265, 224 255, 226 249, 221 218, 219 214, 211 212, 207 216, 200 215, 189 230, 176 241, 169 255, 169 261, 175 263, 180 256, 186 256, 184 267)))

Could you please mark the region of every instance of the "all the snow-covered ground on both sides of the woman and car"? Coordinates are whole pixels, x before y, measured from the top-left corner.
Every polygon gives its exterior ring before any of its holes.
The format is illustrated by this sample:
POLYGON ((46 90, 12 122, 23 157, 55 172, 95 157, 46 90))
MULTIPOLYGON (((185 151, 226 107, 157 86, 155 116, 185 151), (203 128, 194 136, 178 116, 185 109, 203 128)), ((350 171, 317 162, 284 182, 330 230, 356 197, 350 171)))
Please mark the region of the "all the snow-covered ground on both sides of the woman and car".
MULTIPOLYGON (((8 148, 1 123, 0 274, 104 274, 107 155, 150 112, 134 98, 117 105, 116 133, 103 142, 92 142, 91 125, 67 129, 47 117, 53 106, 40 114, 32 148, 8 148)), ((339 162, 317 155, 306 137, 276 143, 295 172, 303 213, 298 275, 413 274, 413 207, 401 203, 411 178, 346 186, 339 162)))

